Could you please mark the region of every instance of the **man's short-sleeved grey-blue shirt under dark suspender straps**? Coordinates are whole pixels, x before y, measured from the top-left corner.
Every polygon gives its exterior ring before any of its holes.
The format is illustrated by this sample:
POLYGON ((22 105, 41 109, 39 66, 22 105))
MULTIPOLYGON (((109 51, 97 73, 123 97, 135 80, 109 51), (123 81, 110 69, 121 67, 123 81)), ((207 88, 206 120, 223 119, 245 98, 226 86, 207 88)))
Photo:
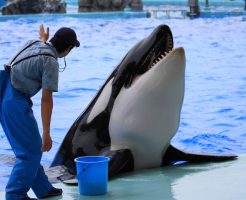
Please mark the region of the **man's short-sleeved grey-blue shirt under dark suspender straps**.
MULTIPOLYGON (((28 41, 22 49, 35 42, 28 41)), ((28 96, 34 96, 41 88, 58 91, 59 64, 56 49, 47 43, 36 42, 23 51, 13 62, 18 62, 25 57, 38 55, 21 61, 11 69, 11 83, 13 87, 28 96)))

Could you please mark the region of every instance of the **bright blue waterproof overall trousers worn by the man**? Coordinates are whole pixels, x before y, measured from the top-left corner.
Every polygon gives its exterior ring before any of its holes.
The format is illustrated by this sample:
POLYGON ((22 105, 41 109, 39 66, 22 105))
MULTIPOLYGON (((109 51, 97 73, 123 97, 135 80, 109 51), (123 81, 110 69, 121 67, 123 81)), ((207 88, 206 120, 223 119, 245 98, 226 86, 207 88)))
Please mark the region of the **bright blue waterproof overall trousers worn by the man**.
POLYGON ((40 165, 42 139, 31 100, 12 86, 10 73, 4 70, 0 70, 0 123, 16 156, 6 200, 25 198, 30 188, 38 198, 46 195, 53 186, 40 165))

